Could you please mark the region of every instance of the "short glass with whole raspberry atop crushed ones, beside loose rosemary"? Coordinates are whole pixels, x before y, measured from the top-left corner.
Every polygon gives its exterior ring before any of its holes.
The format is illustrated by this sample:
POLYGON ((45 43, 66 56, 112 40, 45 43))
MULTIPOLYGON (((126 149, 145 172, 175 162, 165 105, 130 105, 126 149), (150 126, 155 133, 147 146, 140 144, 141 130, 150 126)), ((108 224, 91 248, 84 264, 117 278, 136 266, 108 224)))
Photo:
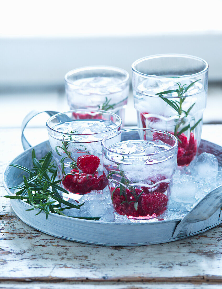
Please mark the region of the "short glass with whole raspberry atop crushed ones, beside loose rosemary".
POLYGON ((58 177, 62 179, 61 186, 72 193, 66 196, 78 200, 80 195, 102 192, 107 186, 101 140, 120 130, 121 123, 119 116, 102 110, 72 110, 48 119, 46 125, 58 177))

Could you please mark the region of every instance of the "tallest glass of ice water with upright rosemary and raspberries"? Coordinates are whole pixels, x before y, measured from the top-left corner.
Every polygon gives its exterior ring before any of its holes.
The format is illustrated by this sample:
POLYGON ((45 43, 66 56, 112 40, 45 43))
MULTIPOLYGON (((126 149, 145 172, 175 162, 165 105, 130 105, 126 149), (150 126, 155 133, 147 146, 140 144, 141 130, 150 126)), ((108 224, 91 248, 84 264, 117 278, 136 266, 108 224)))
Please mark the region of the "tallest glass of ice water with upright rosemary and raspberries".
POLYGON ((132 64, 138 127, 178 138, 179 166, 195 158, 200 144, 208 89, 205 60, 181 54, 152 55, 132 64))

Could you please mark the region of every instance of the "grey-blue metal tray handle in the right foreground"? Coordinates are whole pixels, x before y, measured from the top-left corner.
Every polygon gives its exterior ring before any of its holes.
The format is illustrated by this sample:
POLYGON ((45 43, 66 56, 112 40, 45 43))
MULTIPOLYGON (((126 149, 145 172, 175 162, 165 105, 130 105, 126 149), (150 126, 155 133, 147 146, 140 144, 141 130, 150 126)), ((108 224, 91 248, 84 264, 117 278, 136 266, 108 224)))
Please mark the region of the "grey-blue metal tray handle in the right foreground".
MULTIPOLYGON (((195 233, 193 223, 205 221, 222 206, 222 185, 209 192, 176 226, 173 238, 195 233)), ((206 224, 207 225, 207 224, 206 224)), ((195 228, 194 228, 195 230, 195 228)))

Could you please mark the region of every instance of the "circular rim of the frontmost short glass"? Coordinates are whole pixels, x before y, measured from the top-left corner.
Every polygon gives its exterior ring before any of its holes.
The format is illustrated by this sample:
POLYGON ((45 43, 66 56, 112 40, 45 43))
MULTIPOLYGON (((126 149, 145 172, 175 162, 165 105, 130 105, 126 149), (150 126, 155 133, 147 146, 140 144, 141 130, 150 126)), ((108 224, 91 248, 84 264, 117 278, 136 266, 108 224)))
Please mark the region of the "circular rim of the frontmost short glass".
MULTIPOLYGON (((141 140, 142 141, 142 140, 141 140)), ((108 134, 108 136, 105 136, 102 140, 102 149, 105 149, 106 151, 109 151, 111 153, 115 153, 115 154, 118 154, 118 155, 127 155, 127 156, 137 156, 137 157, 141 157, 141 156, 144 156, 144 155, 147 155, 147 156, 150 156, 150 155, 158 155, 158 154, 162 154, 162 153, 165 153, 165 152, 169 152, 169 151, 172 151, 174 150, 175 148, 178 147, 178 139, 173 135, 173 134, 170 134, 169 132, 166 132, 166 131, 162 131, 162 130, 157 130, 157 129, 148 129, 148 128, 135 128, 135 129, 121 129, 119 131, 115 131, 115 132, 112 132, 111 134, 108 134), (131 153, 118 153, 116 151, 112 151, 112 149, 109 149, 108 147, 106 147, 106 145, 104 144, 104 142, 114 133, 121 133, 121 132, 126 132, 126 131, 153 131, 153 132, 157 132, 157 133, 163 133, 163 134, 166 134, 170 137, 172 137, 174 140, 175 140, 175 144, 170 147, 169 149, 166 149, 165 151, 159 151, 158 153, 135 153, 135 154, 131 154, 131 153)))

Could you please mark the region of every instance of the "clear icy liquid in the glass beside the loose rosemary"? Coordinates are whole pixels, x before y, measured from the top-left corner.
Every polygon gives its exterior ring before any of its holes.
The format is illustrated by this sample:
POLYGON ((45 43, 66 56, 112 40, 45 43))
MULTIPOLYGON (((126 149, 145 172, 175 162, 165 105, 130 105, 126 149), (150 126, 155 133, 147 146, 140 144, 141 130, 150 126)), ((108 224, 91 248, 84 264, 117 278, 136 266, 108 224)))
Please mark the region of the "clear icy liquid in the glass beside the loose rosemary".
MULTIPOLYGON (((98 177, 103 177, 103 161, 102 161, 102 149, 101 140, 104 136, 110 133, 110 129, 114 129, 116 125, 112 121, 106 120, 73 120, 64 123, 59 123, 53 127, 53 129, 65 133, 62 140, 49 137, 50 145, 52 147, 52 154, 58 166, 59 178, 65 178, 66 174, 71 173, 73 170, 73 163, 81 155, 95 155, 99 158, 100 164, 97 169, 98 177), (78 133, 79 136, 71 133, 78 133), (70 134, 69 134, 70 133, 70 134), (68 134, 68 135, 67 135, 68 134), (64 150, 65 146, 65 150, 64 150)), ((82 172, 80 171, 80 174, 82 172)), ((67 188, 62 181, 63 187, 74 194, 84 194, 82 191, 78 192, 76 189, 72 191, 71 187, 67 188)), ((82 186, 86 186, 84 183, 82 186)), ((91 189, 89 189, 90 191, 91 189)), ((92 189, 93 190, 93 189, 92 189)), ((69 194, 72 197, 72 194, 69 194)), ((78 199, 75 197, 75 199, 78 199)))

